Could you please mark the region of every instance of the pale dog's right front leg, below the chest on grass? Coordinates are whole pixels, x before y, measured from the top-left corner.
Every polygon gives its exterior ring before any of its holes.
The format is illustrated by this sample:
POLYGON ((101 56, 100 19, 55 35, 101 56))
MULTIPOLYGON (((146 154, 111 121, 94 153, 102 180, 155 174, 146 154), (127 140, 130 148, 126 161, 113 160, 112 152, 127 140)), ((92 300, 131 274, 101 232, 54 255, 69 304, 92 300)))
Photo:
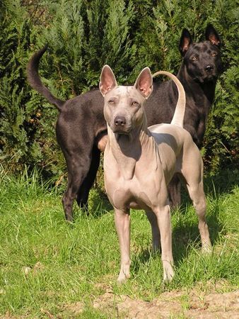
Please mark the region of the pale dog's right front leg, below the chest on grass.
POLYGON ((170 221, 170 207, 165 205, 153 210, 158 220, 161 233, 161 250, 163 263, 163 281, 171 281, 174 276, 173 252, 172 252, 172 230, 170 221))

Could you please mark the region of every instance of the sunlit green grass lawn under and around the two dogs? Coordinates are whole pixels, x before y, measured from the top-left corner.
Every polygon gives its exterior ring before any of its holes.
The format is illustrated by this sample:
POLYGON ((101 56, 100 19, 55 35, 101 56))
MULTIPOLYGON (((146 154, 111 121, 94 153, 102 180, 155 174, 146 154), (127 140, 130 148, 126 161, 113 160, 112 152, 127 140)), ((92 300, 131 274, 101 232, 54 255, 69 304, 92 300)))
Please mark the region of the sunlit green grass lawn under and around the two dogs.
MULTIPOLYGON (((200 252, 197 217, 184 197, 172 214, 175 279, 162 284, 161 258, 151 254, 151 230, 143 211, 132 211, 132 277, 122 286, 119 245, 112 209, 93 189, 90 215, 76 206, 75 221, 64 221, 62 189, 43 183, 40 174, 0 175, 0 315, 29 318, 110 318, 93 301, 109 288, 117 295, 151 301, 163 291, 191 289, 223 279, 238 287, 239 191, 236 172, 205 182, 207 220, 214 252, 200 252), (67 305, 80 302, 72 317, 67 305), (68 310, 67 310, 68 309, 68 310)), ((113 317, 112 317, 113 318, 113 317)))

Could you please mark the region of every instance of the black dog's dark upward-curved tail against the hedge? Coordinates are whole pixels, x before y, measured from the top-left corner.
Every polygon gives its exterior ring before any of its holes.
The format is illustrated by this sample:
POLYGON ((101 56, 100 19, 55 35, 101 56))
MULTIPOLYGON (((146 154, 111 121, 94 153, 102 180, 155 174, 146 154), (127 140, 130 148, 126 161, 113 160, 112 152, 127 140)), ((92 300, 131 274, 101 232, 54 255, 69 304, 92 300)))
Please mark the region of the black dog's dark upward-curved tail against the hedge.
POLYGON ((42 55, 44 55, 46 50, 47 45, 45 45, 45 47, 43 47, 41 50, 35 52, 34 55, 30 58, 30 61, 28 62, 27 66, 28 82, 30 86, 33 87, 33 89, 45 96, 49 103, 52 103, 54 104, 54 106, 57 106, 58 110, 60 111, 64 104, 64 101, 57 99, 54 95, 51 94, 49 89, 47 89, 47 87, 42 84, 42 81, 38 73, 40 58, 42 57, 42 55))

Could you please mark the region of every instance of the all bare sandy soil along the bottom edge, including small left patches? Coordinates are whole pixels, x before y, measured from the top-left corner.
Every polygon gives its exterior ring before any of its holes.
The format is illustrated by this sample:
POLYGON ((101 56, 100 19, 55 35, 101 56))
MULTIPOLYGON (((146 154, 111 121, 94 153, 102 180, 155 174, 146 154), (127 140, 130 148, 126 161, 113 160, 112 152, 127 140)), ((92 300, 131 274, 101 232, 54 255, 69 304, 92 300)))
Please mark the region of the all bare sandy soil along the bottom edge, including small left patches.
MULTIPOLYGON (((224 283, 225 284, 225 283, 224 283)), ((152 301, 129 296, 118 296, 105 284, 104 293, 93 301, 93 308, 110 319, 239 319, 239 290, 218 292, 226 289, 223 282, 216 285, 199 283, 190 290, 161 293, 152 301)), ((98 286, 98 285, 97 285, 98 286)), ((41 310, 44 318, 83 318, 84 303, 64 304, 57 316, 41 310)), ((2 319, 28 318, 11 316, 2 319)))

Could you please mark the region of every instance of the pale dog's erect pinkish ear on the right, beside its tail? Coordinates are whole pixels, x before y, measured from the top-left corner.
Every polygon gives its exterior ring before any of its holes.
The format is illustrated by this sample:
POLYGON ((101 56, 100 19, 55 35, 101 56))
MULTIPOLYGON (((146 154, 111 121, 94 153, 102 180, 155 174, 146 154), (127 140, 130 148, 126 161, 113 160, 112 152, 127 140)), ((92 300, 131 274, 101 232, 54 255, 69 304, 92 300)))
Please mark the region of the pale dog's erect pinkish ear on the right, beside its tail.
POLYGON ((153 91, 153 79, 148 67, 142 69, 139 77, 134 83, 134 87, 144 96, 145 99, 148 99, 148 96, 153 91))

